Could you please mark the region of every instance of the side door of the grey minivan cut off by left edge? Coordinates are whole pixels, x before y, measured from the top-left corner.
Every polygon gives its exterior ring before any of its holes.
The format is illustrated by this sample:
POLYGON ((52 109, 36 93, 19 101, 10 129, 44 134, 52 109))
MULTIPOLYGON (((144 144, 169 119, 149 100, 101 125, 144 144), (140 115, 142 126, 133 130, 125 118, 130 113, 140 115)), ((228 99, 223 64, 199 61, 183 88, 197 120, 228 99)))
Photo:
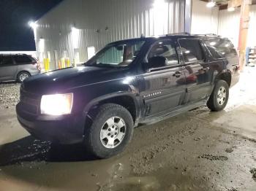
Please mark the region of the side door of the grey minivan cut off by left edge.
POLYGON ((15 80, 17 65, 13 62, 11 55, 0 55, 0 80, 15 80))

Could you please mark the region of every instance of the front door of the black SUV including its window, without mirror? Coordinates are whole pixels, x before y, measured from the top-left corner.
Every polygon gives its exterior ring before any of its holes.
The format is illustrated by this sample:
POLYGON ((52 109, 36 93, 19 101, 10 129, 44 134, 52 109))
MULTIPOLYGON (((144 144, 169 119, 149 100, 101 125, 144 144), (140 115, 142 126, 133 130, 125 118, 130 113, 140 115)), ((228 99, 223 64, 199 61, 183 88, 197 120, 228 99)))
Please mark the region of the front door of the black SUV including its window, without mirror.
POLYGON ((146 60, 155 56, 165 57, 166 66, 150 69, 143 74, 140 95, 146 106, 146 117, 178 108, 184 103, 186 93, 184 69, 178 61, 176 45, 168 39, 155 42, 146 60))

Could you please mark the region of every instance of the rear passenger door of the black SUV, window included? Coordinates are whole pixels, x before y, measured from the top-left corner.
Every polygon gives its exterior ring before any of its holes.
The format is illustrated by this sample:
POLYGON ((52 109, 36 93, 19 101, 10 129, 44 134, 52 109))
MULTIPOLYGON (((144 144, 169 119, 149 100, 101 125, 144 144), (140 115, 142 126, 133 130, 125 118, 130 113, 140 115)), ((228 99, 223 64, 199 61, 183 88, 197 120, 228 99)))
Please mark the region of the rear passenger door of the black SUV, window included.
POLYGON ((205 47, 200 39, 178 39, 185 66, 187 103, 201 101, 211 93, 210 72, 205 47))

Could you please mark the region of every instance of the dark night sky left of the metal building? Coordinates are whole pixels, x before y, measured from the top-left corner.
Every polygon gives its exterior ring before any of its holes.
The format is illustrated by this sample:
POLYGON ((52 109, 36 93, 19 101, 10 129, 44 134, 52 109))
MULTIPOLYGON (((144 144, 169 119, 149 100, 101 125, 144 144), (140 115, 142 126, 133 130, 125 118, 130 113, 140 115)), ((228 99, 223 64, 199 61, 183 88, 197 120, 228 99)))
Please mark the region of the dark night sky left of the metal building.
POLYGON ((62 0, 0 0, 0 51, 35 50, 29 20, 37 20, 62 0))

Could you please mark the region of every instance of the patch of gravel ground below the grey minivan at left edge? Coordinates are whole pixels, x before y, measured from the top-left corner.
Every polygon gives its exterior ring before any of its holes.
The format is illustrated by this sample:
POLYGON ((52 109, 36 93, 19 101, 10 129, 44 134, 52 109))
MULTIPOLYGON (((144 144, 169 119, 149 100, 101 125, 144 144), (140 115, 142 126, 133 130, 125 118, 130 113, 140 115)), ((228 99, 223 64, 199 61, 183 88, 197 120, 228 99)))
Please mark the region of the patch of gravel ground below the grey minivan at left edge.
POLYGON ((18 104, 20 97, 20 84, 0 84, 0 108, 9 108, 18 104))

